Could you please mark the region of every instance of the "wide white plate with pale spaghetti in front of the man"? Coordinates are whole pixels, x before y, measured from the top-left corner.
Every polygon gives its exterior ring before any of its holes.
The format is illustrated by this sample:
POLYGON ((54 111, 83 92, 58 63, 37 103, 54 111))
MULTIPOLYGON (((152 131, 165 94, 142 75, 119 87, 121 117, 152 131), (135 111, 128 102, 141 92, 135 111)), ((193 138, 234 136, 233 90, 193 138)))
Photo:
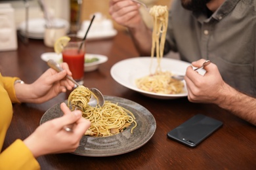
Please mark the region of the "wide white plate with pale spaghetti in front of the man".
POLYGON ((171 58, 161 59, 161 73, 150 72, 158 67, 157 58, 139 57, 129 58, 114 64, 110 74, 116 82, 156 99, 176 99, 186 97, 186 83, 184 80, 172 80, 171 75, 185 75, 186 68, 190 65, 185 61, 171 58))

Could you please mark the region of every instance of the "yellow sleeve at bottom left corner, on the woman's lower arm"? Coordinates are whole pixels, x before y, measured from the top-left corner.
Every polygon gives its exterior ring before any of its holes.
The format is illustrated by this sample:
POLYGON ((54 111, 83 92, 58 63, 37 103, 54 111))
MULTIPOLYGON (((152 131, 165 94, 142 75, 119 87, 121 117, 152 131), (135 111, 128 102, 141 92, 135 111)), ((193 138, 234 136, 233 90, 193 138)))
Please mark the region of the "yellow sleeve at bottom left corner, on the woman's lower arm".
POLYGON ((17 139, 0 154, 0 169, 40 169, 40 165, 28 147, 17 139))

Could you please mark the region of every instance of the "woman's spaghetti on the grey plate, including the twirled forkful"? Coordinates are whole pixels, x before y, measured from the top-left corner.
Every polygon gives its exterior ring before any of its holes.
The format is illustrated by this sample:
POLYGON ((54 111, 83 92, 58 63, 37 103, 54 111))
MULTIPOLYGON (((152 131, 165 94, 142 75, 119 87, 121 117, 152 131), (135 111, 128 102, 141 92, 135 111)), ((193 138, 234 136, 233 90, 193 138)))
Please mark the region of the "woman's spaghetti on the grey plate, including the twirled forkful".
POLYGON ((68 97, 68 106, 71 104, 74 110, 78 105, 83 112, 83 118, 91 121, 91 126, 85 135, 110 136, 122 132, 134 123, 135 126, 131 128, 131 133, 133 133, 137 122, 132 112, 110 101, 105 101, 102 107, 100 105, 91 107, 88 105, 91 95, 93 93, 88 88, 78 86, 68 97))

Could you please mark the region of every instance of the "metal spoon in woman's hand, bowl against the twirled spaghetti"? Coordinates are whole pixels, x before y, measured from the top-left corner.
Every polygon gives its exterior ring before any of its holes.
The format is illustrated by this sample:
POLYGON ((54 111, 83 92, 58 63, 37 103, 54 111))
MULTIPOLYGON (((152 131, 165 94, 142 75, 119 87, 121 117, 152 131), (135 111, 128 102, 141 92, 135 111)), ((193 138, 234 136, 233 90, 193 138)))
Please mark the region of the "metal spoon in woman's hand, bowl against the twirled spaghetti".
MULTIPOLYGON (((47 61, 47 65, 49 65, 49 67, 51 67, 52 69, 54 69, 55 71, 62 71, 62 67, 60 67, 60 65, 58 63, 56 63, 53 59, 49 59, 47 61)), ((72 76, 67 75, 66 76, 68 79, 70 79, 72 82, 74 82, 74 84, 78 87, 80 86, 80 84, 78 84, 73 78, 72 76)), ((94 93, 96 95, 96 97, 98 98, 98 102, 97 99, 95 98, 94 95, 91 95, 91 99, 88 103, 88 105, 90 105, 91 107, 96 107, 96 105, 100 105, 101 107, 104 105, 105 100, 104 97, 102 95, 102 93, 96 89, 96 88, 89 88, 89 90, 91 90, 92 93, 94 93)))

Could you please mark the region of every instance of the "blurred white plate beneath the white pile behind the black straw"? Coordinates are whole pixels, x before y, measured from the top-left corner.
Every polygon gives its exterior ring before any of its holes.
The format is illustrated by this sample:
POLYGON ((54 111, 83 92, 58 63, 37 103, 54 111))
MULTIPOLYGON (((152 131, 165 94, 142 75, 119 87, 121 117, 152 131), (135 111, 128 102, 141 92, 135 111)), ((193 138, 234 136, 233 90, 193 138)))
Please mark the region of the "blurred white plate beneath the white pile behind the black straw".
MULTIPOLYGON (((109 39, 116 36, 116 34, 117 34, 116 29, 112 29, 110 31, 102 31, 102 32, 89 31, 86 39, 87 40, 109 39)), ((85 36, 85 31, 81 31, 81 30, 77 31, 77 37, 83 39, 84 36, 85 36)))

